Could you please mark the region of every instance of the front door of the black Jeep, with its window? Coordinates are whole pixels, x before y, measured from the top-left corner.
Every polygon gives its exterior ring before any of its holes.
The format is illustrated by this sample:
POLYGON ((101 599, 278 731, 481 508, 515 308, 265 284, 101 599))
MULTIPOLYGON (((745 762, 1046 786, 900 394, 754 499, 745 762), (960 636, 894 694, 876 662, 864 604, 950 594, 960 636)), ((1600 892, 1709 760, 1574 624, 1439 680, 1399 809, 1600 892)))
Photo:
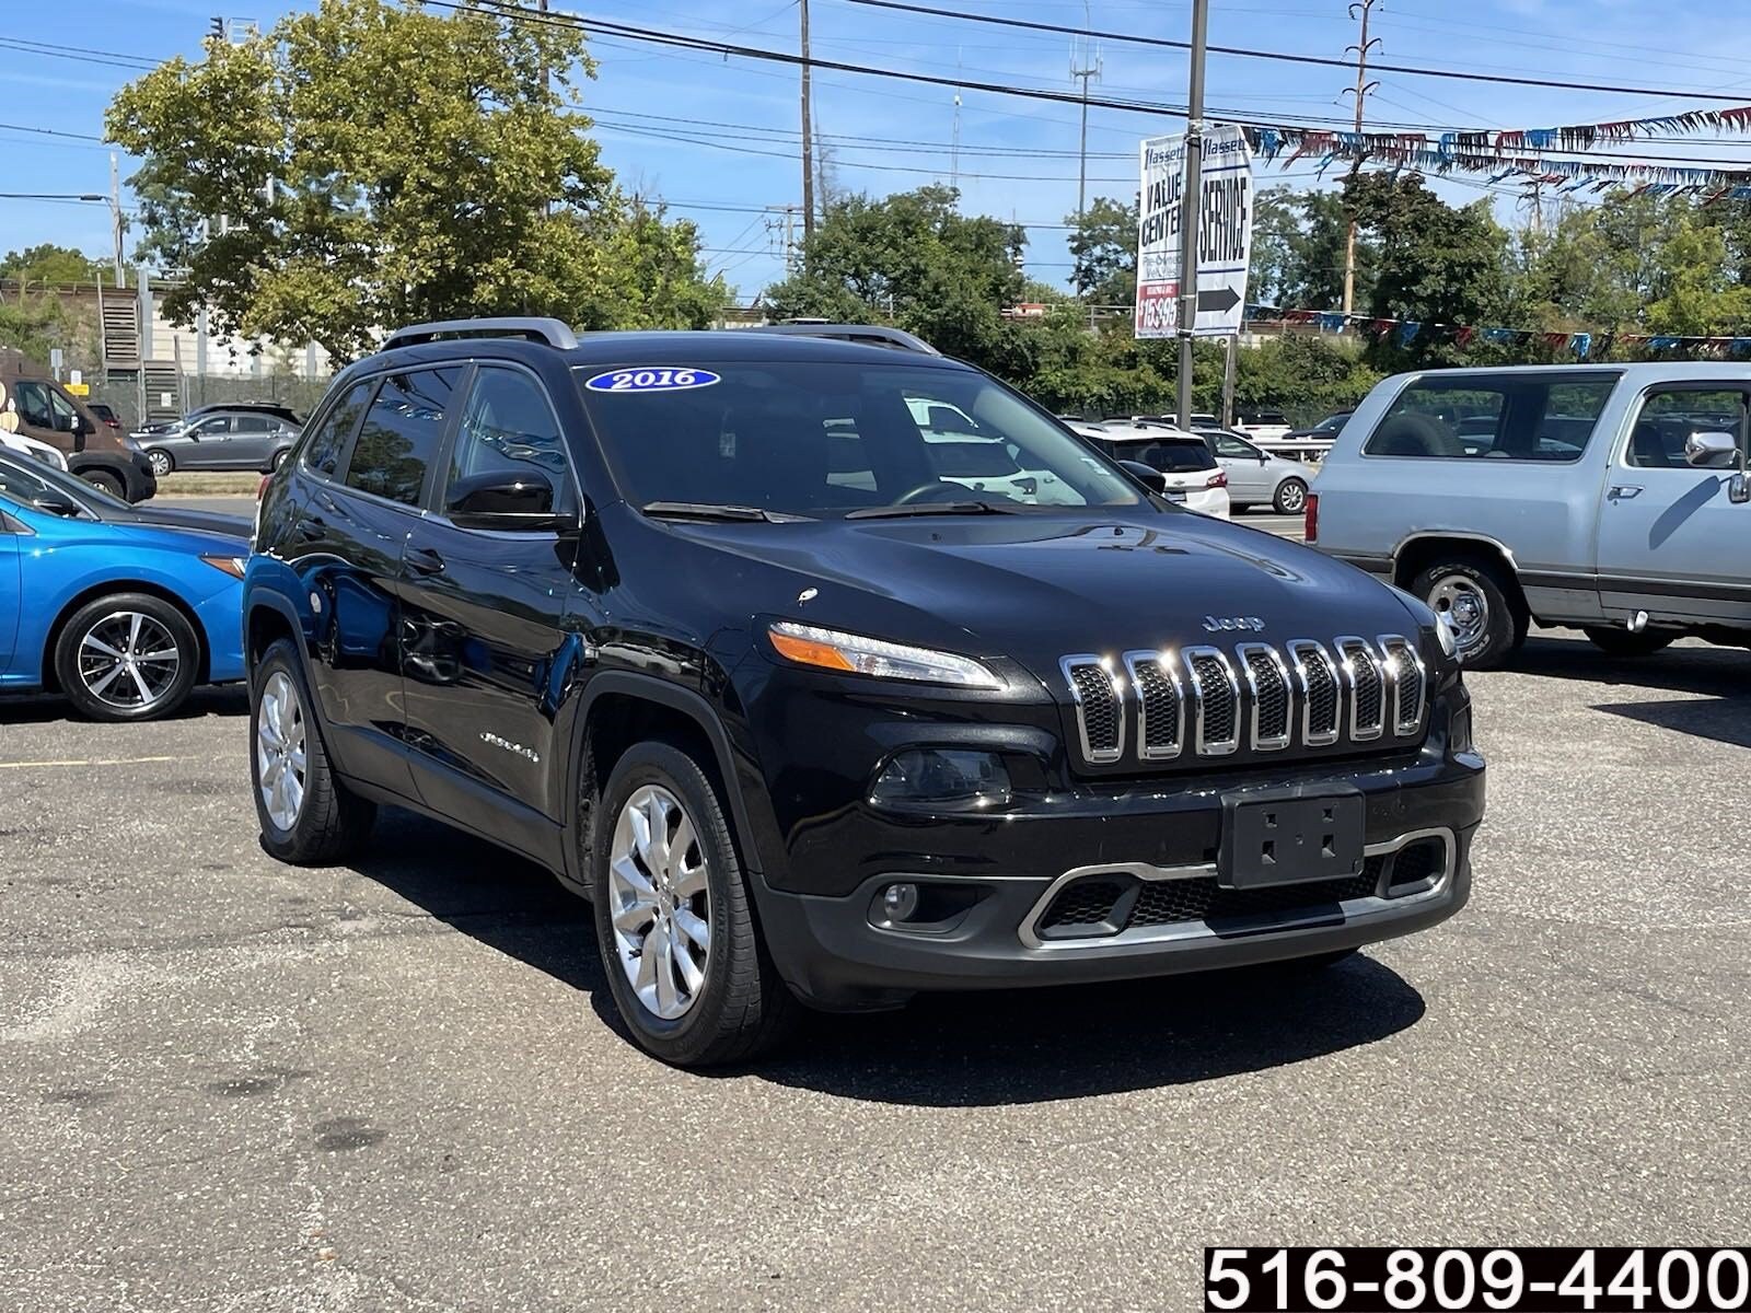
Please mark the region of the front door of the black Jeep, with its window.
POLYGON ((415 783, 427 807, 546 856, 566 777, 555 716, 580 655, 566 628, 578 534, 464 529, 483 476, 524 471, 578 509, 566 441, 534 375, 480 366, 459 408, 432 513, 403 560, 403 674, 415 783), (510 805, 506 805, 506 802, 510 805), (506 823, 520 833, 506 832, 506 823))

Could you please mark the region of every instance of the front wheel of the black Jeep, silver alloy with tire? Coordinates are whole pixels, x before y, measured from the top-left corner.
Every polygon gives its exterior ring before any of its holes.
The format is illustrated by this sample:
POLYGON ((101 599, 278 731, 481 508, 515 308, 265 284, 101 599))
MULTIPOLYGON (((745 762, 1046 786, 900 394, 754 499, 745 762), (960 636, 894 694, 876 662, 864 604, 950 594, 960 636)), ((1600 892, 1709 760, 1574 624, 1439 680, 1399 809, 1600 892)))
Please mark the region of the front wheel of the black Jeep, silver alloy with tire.
POLYGON ((674 1066, 767 1052, 798 1005, 760 942, 711 779, 679 748, 634 744, 608 777, 601 816, 595 938, 632 1038, 674 1066))

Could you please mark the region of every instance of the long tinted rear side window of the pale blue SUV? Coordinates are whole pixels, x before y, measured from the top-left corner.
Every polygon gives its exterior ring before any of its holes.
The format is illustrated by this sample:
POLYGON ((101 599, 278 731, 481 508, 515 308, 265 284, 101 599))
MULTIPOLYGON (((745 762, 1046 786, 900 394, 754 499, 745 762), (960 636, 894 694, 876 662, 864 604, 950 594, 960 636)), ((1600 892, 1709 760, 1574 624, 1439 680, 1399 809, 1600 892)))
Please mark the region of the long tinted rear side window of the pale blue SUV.
POLYGON ((1579 460, 1618 375, 1431 375, 1406 387, 1366 455, 1579 460))

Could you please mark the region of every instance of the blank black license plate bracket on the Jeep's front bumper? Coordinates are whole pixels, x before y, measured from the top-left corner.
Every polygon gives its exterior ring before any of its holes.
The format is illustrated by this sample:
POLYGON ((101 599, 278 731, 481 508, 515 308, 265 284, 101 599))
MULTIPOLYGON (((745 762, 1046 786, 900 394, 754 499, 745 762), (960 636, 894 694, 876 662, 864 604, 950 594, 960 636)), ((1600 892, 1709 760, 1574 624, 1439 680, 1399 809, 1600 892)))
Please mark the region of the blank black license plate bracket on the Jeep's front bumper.
POLYGON ((1326 784, 1227 793, 1222 797, 1217 884, 1264 889, 1361 875, 1366 821, 1361 790, 1326 784))

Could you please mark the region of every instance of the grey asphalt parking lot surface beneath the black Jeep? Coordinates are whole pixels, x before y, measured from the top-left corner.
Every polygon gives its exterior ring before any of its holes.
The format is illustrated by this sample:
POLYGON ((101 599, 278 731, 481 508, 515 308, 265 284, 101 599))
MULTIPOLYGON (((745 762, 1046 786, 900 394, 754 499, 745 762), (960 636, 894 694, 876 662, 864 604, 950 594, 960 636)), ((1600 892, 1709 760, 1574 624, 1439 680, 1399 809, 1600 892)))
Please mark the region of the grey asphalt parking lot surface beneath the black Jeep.
POLYGON ((256 842, 247 707, 0 704, 0 1308, 1194 1308, 1201 1246, 1742 1243, 1751 655, 1476 674, 1469 909, 1322 977, 616 1035, 541 872, 256 842))

